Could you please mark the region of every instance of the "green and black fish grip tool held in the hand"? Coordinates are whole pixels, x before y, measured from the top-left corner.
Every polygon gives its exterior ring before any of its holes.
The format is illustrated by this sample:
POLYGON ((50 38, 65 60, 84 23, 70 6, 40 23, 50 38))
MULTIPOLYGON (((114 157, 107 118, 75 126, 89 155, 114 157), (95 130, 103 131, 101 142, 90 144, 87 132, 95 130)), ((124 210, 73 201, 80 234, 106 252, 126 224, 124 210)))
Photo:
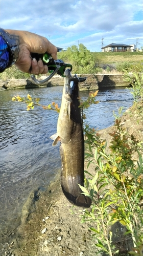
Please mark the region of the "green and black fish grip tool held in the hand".
POLYGON ((51 73, 51 75, 46 77, 44 80, 37 80, 35 75, 31 75, 31 78, 36 84, 43 84, 49 81, 55 74, 65 77, 64 76, 65 69, 70 68, 70 71, 71 71, 73 68, 72 65, 64 63, 64 61, 61 59, 54 60, 48 53, 44 53, 44 54, 32 53, 31 57, 32 59, 36 58, 37 61, 41 59, 43 61, 43 64, 48 67, 49 73, 51 73))

